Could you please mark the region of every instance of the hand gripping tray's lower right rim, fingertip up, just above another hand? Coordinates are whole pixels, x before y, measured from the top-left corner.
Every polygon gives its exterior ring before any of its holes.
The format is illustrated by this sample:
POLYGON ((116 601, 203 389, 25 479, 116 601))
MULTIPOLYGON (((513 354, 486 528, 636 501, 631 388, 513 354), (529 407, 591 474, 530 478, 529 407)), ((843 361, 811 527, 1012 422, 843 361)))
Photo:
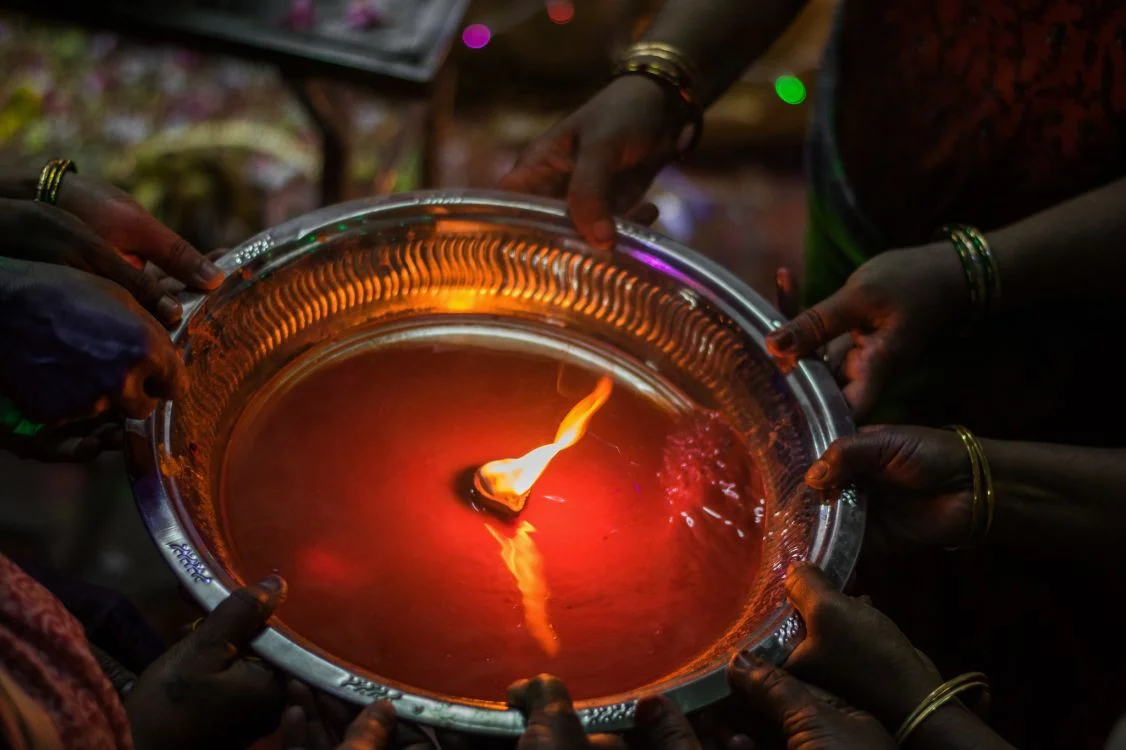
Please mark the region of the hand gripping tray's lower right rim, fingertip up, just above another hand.
MULTIPOLYGON (((838 591, 816 568, 793 569, 786 591, 805 622, 805 640, 786 662, 796 677, 870 712, 885 727, 899 726, 942 682, 887 616, 838 591)), ((780 679, 759 678, 766 688, 780 679)))

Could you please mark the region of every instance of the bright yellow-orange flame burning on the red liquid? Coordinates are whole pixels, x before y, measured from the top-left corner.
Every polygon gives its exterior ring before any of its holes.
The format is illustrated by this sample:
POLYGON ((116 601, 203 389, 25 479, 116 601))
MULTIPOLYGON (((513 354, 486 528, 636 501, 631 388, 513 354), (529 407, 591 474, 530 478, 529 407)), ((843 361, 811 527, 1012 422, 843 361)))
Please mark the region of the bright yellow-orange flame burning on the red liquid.
POLYGON ((555 439, 529 450, 519 458, 490 461, 473 475, 473 489, 486 503, 506 515, 516 515, 528 502, 531 485, 560 453, 587 434, 587 426, 614 390, 614 381, 604 375, 586 399, 577 403, 560 422, 555 439))

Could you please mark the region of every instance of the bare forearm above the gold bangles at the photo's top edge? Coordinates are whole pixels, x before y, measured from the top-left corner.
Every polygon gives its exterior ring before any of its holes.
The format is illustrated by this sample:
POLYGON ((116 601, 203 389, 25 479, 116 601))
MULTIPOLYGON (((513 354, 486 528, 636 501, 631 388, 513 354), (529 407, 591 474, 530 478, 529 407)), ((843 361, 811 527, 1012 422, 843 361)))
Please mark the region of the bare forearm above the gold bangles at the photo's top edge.
POLYGON ((668 0, 644 38, 680 50, 711 105, 793 23, 805 0, 668 0))

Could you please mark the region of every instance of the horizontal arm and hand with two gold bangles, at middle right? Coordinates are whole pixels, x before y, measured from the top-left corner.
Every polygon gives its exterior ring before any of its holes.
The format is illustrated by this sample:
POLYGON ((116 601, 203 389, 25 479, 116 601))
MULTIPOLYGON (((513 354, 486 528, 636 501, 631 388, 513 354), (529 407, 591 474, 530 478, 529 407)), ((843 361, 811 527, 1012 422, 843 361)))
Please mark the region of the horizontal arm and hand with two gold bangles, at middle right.
MULTIPOLYGON (((995 511, 986 544, 1040 555, 1109 555, 1126 539, 1126 450, 981 440, 995 511)), ((949 430, 870 428, 833 443, 811 467, 816 489, 851 482, 872 497, 869 534, 891 546, 957 546, 968 533, 969 459, 949 430)))

